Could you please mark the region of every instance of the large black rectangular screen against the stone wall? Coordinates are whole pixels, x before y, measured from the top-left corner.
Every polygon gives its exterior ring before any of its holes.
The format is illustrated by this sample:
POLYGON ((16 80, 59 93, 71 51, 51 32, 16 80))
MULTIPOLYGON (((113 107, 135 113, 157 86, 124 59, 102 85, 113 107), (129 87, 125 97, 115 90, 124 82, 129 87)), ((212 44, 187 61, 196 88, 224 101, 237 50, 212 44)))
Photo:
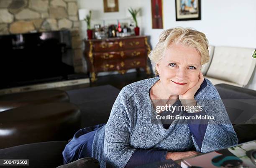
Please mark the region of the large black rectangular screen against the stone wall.
POLYGON ((69 30, 0 36, 0 89, 74 74, 69 30))

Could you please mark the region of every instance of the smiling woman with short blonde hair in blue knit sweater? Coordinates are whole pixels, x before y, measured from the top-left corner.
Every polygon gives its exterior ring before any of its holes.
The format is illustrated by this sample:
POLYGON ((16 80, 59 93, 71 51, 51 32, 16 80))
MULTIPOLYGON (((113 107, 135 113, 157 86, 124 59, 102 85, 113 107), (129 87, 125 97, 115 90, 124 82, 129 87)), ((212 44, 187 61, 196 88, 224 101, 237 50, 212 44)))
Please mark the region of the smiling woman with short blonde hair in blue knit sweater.
POLYGON ((128 168, 238 143, 218 91, 200 72, 209 60, 208 41, 202 32, 182 27, 165 30, 149 58, 156 64, 157 77, 125 86, 108 123, 79 130, 67 144, 63 151, 66 163, 91 156, 102 168, 128 168), (166 109, 156 112, 163 102, 202 105, 201 111, 183 109, 171 114, 212 116, 214 120, 160 119, 169 114, 166 109))

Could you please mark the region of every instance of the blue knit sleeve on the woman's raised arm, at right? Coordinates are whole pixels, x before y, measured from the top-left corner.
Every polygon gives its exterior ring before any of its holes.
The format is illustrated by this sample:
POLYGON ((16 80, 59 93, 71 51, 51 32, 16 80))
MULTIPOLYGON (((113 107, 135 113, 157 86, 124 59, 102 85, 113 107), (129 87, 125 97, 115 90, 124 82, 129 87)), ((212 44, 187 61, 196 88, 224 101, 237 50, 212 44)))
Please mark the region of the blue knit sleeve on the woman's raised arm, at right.
MULTIPOLYGON (((197 145, 192 134, 196 150, 201 153, 207 153, 236 145, 238 138, 215 86, 210 84, 201 94, 204 95, 203 100, 198 99, 197 102, 203 106, 208 116, 214 116, 215 119, 210 119, 207 124, 201 148, 197 145)), ((198 96, 200 97, 200 95, 198 96)))

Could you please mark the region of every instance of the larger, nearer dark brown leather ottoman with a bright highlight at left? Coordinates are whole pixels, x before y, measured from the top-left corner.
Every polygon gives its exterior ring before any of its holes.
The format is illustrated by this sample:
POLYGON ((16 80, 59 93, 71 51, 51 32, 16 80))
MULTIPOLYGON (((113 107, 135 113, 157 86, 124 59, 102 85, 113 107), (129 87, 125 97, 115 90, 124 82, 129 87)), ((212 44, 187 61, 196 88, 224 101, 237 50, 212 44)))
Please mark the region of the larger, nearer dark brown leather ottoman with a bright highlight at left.
POLYGON ((71 103, 33 104, 0 113, 0 149, 44 141, 68 141, 80 128, 71 103))

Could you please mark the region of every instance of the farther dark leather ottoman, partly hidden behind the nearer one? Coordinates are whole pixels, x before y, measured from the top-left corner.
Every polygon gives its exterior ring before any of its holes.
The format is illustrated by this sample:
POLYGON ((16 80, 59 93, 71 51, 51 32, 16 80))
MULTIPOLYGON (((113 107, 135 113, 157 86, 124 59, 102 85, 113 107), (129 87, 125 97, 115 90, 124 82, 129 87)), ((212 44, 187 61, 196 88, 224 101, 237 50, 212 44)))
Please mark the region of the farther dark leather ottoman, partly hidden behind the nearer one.
POLYGON ((28 104, 44 104, 50 102, 69 102, 69 96, 61 90, 29 91, 0 96, 0 112, 28 104))

